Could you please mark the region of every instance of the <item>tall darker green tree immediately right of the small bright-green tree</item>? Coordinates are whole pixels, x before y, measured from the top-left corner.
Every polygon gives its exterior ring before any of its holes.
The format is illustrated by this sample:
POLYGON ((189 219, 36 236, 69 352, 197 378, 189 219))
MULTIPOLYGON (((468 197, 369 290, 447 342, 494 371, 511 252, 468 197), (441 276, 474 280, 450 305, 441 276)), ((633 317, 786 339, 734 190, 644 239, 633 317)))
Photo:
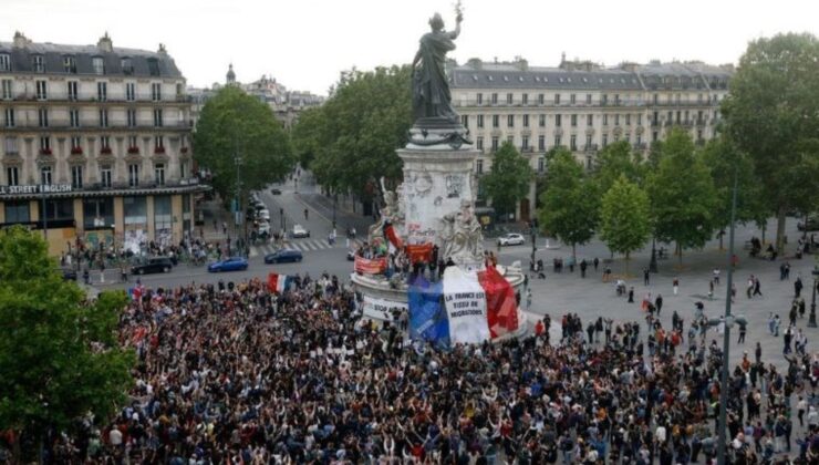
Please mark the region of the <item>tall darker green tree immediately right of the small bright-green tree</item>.
POLYGON ((676 128, 665 140, 647 192, 654 234, 660 240, 676 242, 682 266, 684 249, 701 248, 711 238, 719 206, 711 173, 696 156, 687 132, 676 128))

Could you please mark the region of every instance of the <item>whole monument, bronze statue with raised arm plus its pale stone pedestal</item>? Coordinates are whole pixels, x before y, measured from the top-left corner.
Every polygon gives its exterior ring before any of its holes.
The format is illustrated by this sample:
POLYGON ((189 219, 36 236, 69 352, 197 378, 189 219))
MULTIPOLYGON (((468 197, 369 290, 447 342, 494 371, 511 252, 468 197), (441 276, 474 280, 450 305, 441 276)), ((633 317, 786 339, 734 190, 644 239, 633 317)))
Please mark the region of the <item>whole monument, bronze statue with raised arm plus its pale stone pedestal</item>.
MULTIPOLYGON (((421 38, 413 60, 413 111, 416 122, 408 143, 396 151, 404 162, 404 183, 384 193, 381 219, 369 231, 369 241, 387 240, 391 226, 408 247, 434 245, 438 258, 462 270, 485 267, 480 223, 475 216, 476 186, 473 167, 479 152, 473 147, 467 130, 452 106, 445 70, 446 53, 455 49, 463 14, 456 7, 456 28, 444 30, 438 13, 429 20, 431 32, 421 38)), ((519 268, 498 267, 519 291, 523 275, 519 268)), ((405 278, 405 277, 401 277, 405 278)), ((384 273, 355 272, 353 283, 363 298, 364 313, 374 319, 391 319, 391 309, 407 308, 405 279, 384 273)), ((522 327, 522 324, 521 324, 522 327)))

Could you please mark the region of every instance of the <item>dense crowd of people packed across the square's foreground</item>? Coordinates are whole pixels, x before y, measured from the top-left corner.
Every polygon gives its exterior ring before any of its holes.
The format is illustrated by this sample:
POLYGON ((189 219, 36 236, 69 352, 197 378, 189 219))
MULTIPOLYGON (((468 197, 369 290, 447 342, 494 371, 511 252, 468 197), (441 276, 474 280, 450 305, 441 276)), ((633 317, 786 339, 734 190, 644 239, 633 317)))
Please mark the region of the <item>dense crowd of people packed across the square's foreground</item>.
POLYGON ((664 329, 647 311, 645 331, 566 314, 559 341, 547 316, 526 339, 439 351, 361 318, 326 273, 279 296, 259 280, 136 296, 129 402, 55 438, 59 463, 704 463, 724 389, 729 463, 819 461, 819 360, 778 371, 757 348, 723 386, 708 326, 685 337, 676 314, 664 329))

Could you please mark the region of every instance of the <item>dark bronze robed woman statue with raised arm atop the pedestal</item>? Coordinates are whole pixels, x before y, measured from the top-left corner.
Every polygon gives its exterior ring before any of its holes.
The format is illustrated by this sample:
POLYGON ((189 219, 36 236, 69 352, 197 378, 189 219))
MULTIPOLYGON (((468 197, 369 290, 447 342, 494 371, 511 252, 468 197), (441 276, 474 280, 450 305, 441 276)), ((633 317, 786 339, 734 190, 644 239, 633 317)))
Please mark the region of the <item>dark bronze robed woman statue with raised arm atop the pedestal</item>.
POLYGON ((449 83, 446 79, 446 53, 455 50, 455 39, 460 34, 463 12, 460 2, 455 7, 456 27, 444 30, 444 20, 435 13, 429 19, 431 32, 421 38, 418 52, 413 59, 413 110, 416 120, 432 124, 458 124, 458 114, 452 106, 449 83))

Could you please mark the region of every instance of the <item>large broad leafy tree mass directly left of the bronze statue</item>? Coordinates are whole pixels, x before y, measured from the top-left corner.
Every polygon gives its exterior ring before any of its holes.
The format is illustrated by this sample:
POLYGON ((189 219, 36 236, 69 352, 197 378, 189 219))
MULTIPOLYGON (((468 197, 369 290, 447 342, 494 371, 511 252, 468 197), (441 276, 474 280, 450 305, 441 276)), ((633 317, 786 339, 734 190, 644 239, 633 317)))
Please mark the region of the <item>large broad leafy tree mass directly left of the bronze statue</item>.
POLYGON ((409 66, 344 73, 326 102, 299 120, 293 145, 312 158, 322 186, 370 199, 377 179, 401 178, 395 149, 414 123, 409 75, 409 66))

